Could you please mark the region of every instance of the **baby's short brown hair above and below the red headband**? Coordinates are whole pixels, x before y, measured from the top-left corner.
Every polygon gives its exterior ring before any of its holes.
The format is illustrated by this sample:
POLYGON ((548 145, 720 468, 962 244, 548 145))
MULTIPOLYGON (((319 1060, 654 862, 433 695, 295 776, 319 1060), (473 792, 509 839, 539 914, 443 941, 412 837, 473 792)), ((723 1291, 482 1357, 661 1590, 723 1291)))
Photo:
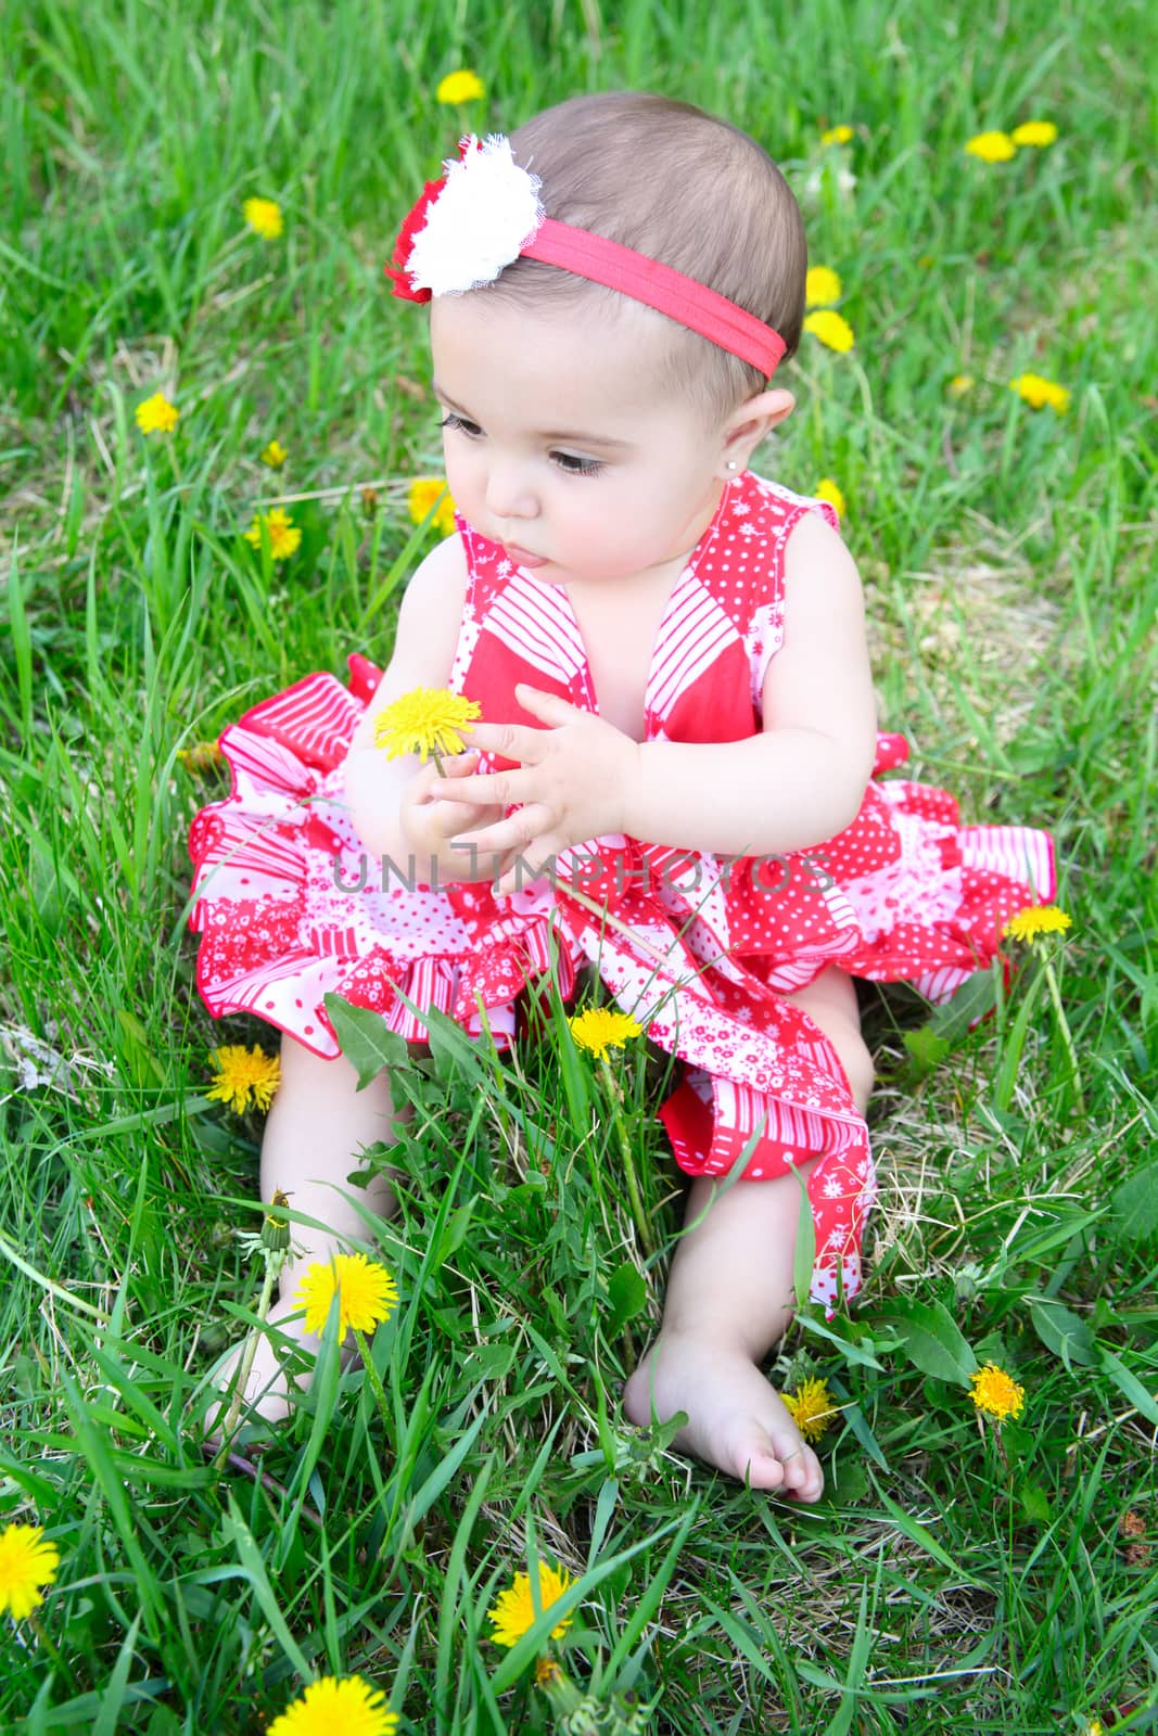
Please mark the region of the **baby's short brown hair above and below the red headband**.
MULTIPOLYGON (((792 191, 767 151, 731 122, 641 90, 569 97, 510 135, 542 179, 549 217, 674 266, 800 342, 807 252, 792 191)), ((618 290, 536 259, 516 259, 484 295, 556 307, 620 302, 618 290)), ((766 377, 710 339, 668 321, 660 391, 691 401, 708 427, 766 377)))

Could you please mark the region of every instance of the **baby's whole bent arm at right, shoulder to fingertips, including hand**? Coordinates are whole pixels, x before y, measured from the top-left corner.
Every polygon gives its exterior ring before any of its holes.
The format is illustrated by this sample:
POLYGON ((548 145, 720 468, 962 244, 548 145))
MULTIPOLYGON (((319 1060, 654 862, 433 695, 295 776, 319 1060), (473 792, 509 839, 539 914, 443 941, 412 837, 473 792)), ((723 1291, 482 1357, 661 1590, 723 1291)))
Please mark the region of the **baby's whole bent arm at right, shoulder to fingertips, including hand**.
POLYGON ((472 835, 479 851, 517 851, 542 866, 569 844, 616 832, 726 856, 823 844, 856 818, 875 750, 856 564, 819 514, 792 531, 785 641, 764 681, 764 729, 750 740, 635 743, 556 694, 519 687, 516 696, 554 727, 479 727, 479 746, 521 769, 469 778, 464 795, 524 804, 472 835))

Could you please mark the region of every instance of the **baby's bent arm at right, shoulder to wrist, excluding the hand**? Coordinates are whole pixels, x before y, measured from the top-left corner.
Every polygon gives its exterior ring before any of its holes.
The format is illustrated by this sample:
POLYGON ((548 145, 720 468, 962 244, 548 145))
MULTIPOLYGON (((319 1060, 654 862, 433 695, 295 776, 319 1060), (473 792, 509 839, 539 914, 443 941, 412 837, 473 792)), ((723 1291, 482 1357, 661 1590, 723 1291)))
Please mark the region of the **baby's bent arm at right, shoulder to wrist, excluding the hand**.
POLYGON ((726 854, 807 849, 851 825, 873 766, 865 601, 840 536, 809 512, 785 549, 785 639, 748 741, 648 741, 623 832, 726 854))

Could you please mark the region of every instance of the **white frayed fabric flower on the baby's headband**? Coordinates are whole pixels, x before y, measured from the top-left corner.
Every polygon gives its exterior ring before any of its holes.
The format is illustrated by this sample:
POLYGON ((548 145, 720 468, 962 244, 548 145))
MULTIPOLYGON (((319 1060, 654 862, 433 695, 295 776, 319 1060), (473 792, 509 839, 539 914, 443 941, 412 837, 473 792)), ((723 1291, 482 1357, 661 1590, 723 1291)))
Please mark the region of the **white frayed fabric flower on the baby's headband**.
POLYGON ((519 168, 510 139, 470 134, 462 161, 448 160, 446 186, 427 207, 406 262, 411 285, 432 295, 465 295, 493 283, 503 266, 536 234, 547 215, 542 181, 519 168))

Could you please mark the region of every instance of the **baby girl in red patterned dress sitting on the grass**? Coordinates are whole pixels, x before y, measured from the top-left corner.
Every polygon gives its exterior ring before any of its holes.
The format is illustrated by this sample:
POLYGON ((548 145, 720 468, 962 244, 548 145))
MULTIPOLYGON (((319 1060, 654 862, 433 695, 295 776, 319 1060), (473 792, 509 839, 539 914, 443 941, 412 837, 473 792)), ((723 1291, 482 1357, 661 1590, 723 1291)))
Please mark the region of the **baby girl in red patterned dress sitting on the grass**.
MULTIPOLYGON (((477 1035, 481 1003, 503 1045, 552 951, 564 996, 590 962, 684 1064, 661 1116, 691 1229, 627 1417, 684 1411, 686 1451, 813 1502, 819 1462, 760 1364, 792 1318, 802 1189, 813 1297, 859 1286, 852 977, 951 993, 1052 896, 1049 838, 873 781, 906 748, 877 734, 837 516, 748 469, 793 410, 776 380, 806 276, 753 139, 663 97, 575 97, 464 141, 391 276, 431 304, 455 533, 410 580, 385 674, 354 656, 349 687, 309 675, 226 731, 234 792, 191 842, 207 1005, 283 1033, 262 1198, 326 1226, 295 1231, 274 1318, 309 1347, 304 1267, 391 1208, 384 1180, 345 1182, 392 1137, 387 1080, 356 1090, 323 996, 413 1042, 429 1007, 477 1035), (441 769, 375 746, 413 687, 481 707, 441 769)), ((269 1345, 247 1399, 285 1413, 269 1345)))

